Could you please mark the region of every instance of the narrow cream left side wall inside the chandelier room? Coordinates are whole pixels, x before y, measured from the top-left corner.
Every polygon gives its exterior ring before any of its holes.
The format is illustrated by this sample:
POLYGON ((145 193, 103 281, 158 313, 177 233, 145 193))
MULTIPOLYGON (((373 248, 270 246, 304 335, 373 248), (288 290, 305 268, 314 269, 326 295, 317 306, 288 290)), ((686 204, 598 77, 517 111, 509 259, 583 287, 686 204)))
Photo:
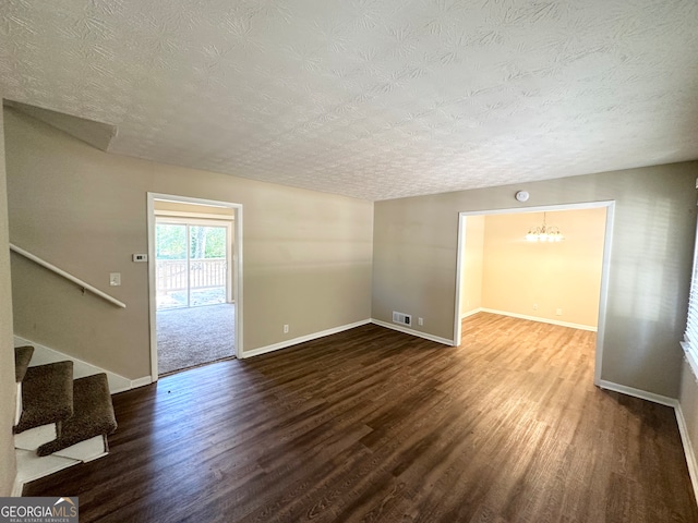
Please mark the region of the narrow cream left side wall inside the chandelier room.
POLYGON ((468 314, 482 306, 484 222, 484 216, 466 217, 460 269, 460 314, 468 314))

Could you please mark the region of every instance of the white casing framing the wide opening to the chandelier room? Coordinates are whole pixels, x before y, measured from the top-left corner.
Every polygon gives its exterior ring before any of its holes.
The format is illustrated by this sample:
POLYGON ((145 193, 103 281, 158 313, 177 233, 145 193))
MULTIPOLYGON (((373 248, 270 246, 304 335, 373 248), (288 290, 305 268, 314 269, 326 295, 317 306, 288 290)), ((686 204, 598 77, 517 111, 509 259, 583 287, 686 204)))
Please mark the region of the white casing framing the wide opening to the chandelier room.
POLYGON ((613 214, 615 209, 615 202, 588 202, 579 204, 564 204, 564 205, 546 205, 537 207, 517 207, 509 209, 490 209, 490 210, 472 210, 462 211, 458 214, 458 247, 456 258, 456 303, 455 303, 455 318, 454 318, 454 345, 460 345, 460 293, 461 293, 461 279, 462 279, 462 256, 465 251, 465 231, 466 219, 468 216, 482 216, 482 215, 505 215, 505 214, 524 214, 524 212, 543 212, 555 210, 583 210, 594 209, 599 207, 606 208, 606 221, 603 240, 603 259, 601 268, 601 288, 599 291, 599 320, 597 328, 597 346, 595 346, 595 361, 594 361, 594 385, 601 386, 601 365, 603 361, 603 338, 605 331, 605 317, 606 317, 606 303, 609 293, 609 272, 611 267, 611 244, 613 238, 613 214))

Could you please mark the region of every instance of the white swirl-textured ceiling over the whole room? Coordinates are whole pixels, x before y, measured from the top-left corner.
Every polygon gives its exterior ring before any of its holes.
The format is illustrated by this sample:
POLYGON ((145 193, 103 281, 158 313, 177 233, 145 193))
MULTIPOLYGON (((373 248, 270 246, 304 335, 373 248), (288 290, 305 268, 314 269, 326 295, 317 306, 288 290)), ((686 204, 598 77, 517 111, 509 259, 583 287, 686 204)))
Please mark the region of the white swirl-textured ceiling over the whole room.
POLYGON ((698 158, 696 0, 2 0, 110 153, 366 199, 698 158))

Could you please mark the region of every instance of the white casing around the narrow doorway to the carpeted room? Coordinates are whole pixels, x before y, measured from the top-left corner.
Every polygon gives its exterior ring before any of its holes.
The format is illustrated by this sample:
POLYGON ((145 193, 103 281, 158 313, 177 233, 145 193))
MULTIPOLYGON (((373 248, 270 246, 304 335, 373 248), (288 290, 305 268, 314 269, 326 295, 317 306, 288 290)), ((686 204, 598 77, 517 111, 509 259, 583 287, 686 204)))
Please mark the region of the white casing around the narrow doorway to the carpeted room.
POLYGON ((242 205, 231 202, 219 202, 213 199, 193 198, 189 196, 179 196, 172 194, 147 193, 147 227, 148 227, 148 309, 151 320, 151 378, 153 381, 158 379, 157 369, 157 283, 155 272, 155 202, 161 199, 167 202, 176 202, 182 204, 194 204, 213 207, 226 207, 234 210, 232 227, 232 301, 236 304, 234 309, 234 346, 236 357, 242 357, 242 205))

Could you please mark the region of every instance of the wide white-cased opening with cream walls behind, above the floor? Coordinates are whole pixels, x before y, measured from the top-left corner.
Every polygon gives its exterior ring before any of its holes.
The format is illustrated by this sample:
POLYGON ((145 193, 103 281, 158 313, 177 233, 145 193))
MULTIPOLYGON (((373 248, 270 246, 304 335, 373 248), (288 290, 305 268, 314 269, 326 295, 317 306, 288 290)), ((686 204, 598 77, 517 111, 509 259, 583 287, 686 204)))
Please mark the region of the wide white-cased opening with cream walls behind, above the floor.
MULTIPOLYGON (((594 202, 460 212, 455 344, 460 345, 462 318, 477 312, 592 330, 597 332, 594 384, 598 385, 603 360, 613 211, 614 202, 594 202), (570 212, 555 215, 557 211, 570 212), (545 214, 549 224, 562 226, 553 223, 555 216, 561 221, 568 220, 569 238, 561 243, 527 242, 527 231, 544 222, 545 214), (498 234, 490 236, 485 245, 483 228, 496 231, 497 227, 498 234), (480 254, 479 267, 472 262, 473 256, 478 258, 478 250, 488 253, 484 263, 480 254), (480 273, 473 276, 473 272, 480 273), (473 292, 478 285, 485 289, 491 283, 488 292, 473 292)), ((566 234, 564 227, 561 231, 566 234)))

